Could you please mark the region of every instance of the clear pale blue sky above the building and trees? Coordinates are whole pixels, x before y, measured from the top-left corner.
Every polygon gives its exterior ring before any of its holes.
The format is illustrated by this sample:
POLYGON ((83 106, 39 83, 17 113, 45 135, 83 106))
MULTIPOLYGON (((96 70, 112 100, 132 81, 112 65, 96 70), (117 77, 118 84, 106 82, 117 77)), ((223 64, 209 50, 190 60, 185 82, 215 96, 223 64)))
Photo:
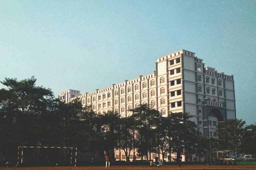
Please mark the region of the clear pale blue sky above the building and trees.
POLYGON ((255 18, 255 0, 0 0, 0 80, 35 76, 55 97, 85 94, 152 73, 157 57, 186 49, 234 74, 237 118, 254 124, 255 18))

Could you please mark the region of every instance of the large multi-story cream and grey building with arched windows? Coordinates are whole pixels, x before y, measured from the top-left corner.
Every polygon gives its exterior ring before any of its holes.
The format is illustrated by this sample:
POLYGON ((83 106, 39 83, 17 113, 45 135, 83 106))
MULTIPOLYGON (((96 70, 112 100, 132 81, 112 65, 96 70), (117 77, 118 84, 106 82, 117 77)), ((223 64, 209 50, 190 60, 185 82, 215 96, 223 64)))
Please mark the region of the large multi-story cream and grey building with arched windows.
MULTIPOLYGON (((205 67, 203 60, 194 52, 184 49, 157 58, 156 69, 151 74, 82 95, 80 91, 73 92, 60 92, 59 97, 66 102, 78 97, 84 106, 91 105, 97 114, 114 111, 121 117, 129 117, 132 113, 128 110, 145 103, 163 116, 171 112, 187 112, 192 117, 191 121, 196 123, 197 130, 207 136, 210 131, 211 137, 217 137, 219 121, 236 118, 233 75, 205 67)), ((131 152, 130 159, 133 154, 136 152, 131 152)), ((125 160, 121 150, 115 150, 115 157, 125 160)), ((167 160, 167 156, 149 154, 149 159, 155 157, 167 160)))

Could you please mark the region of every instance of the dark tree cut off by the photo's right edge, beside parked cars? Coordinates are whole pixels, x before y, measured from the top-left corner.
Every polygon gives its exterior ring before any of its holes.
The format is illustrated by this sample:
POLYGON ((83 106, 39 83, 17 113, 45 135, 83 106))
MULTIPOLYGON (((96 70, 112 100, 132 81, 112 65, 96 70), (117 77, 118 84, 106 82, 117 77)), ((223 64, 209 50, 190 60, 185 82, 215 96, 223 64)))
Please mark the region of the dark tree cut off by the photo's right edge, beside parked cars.
POLYGON ((247 154, 256 155, 256 124, 245 127, 241 142, 241 151, 247 154))

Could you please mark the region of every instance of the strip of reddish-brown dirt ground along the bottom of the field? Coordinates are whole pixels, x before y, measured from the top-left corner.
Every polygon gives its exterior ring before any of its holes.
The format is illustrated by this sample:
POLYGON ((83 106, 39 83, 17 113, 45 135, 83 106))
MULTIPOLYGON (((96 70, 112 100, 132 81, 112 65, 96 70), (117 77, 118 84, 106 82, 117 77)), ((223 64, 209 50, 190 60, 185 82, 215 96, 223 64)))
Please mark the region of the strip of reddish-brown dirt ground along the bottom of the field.
POLYGON ((0 167, 0 170, 199 170, 199 169, 229 169, 229 170, 256 170, 256 165, 236 165, 236 166, 209 166, 209 165, 182 165, 181 168, 178 165, 165 165, 165 166, 111 166, 105 168, 104 166, 77 166, 77 167, 12 167, 5 168, 0 167))

